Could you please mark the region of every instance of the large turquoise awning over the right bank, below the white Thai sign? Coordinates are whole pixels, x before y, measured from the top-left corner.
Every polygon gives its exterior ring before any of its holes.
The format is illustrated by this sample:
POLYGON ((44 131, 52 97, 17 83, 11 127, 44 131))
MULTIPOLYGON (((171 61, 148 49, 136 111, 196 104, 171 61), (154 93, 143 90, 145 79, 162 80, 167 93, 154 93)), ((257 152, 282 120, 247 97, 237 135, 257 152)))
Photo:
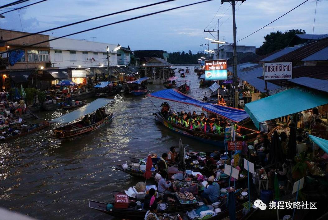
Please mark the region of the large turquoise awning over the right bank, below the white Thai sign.
POLYGON ((264 99, 245 104, 245 111, 250 115, 255 126, 260 122, 292 115, 307 109, 328 103, 328 96, 305 88, 292 88, 264 99))

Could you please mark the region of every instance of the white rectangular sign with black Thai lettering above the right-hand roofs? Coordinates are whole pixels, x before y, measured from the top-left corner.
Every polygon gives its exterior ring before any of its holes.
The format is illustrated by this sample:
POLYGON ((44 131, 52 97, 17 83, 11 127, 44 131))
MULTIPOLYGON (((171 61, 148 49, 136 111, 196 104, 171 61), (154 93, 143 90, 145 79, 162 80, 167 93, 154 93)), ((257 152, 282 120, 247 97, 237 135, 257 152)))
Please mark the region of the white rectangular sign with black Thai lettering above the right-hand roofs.
POLYGON ((292 79, 292 62, 269 62, 263 64, 264 80, 292 79))

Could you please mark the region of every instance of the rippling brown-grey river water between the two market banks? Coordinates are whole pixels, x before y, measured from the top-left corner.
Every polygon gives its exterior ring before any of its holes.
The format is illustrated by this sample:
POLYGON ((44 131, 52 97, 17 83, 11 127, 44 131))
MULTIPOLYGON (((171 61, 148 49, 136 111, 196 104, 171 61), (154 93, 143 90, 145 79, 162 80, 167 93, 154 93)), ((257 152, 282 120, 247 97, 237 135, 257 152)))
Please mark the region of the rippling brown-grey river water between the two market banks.
MULTIPOLYGON (((181 66, 185 67, 185 66, 181 66)), ((176 68, 180 68, 176 66, 176 68)), ((208 87, 200 88, 194 66, 182 80, 191 81, 190 96, 201 100, 208 87)), ((180 75, 176 72, 176 76, 180 75)), ((150 92, 165 89, 149 85, 150 92)), ((88 101, 92 101, 89 99, 88 101)), ((160 109, 164 100, 151 98, 160 109)), ((156 123, 156 111, 146 96, 115 96, 108 106, 113 122, 74 140, 47 138, 51 128, 0 146, 0 206, 37 219, 111 219, 90 209, 89 200, 113 201, 113 191, 123 191, 142 178, 114 169, 129 157, 167 153, 181 137, 187 150, 214 150, 188 137, 179 136, 156 123)), ((172 108, 188 111, 174 102, 172 108)), ((195 107, 189 106, 190 111, 195 107)), ((199 114, 201 109, 195 109, 199 114)), ((42 119, 54 119, 69 111, 37 112, 42 119)))

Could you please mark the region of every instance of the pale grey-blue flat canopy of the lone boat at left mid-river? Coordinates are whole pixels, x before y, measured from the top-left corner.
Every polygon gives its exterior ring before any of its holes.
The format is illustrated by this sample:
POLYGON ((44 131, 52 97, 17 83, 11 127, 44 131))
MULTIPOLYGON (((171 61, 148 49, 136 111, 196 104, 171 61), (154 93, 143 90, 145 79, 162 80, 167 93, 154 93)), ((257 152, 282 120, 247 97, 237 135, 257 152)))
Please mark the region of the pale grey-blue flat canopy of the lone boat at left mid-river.
POLYGON ((103 99, 103 98, 98 98, 91 103, 82 106, 79 109, 76 109, 75 111, 72 111, 66 115, 62 115, 59 118, 53 119, 49 122, 52 123, 70 123, 78 118, 81 118, 87 114, 90 114, 94 111, 96 111, 98 108, 101 108, 109 103, 114 101, 113 99, 103 99))

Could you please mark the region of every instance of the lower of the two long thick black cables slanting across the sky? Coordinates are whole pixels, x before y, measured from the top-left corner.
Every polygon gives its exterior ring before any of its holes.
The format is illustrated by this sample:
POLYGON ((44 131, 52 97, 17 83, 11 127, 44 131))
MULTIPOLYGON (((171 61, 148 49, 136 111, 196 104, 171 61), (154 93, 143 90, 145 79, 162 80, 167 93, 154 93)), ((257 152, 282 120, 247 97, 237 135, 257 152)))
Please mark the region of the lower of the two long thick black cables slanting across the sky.
MULTIPOLYGON (((98 27, 93 27, 93 28, 86 29, 86 30, 81 30, 81 31, 78 31, 78 32, 75 32, 75 33, 72 33, 72 34, 67 34, 67 35, 64 35, 64 36, 61 36, 61 37, 56 37, 56 38, 49 39, 49 40, 46 40, 46 41, 38 42, 38 43, 35 43, 35 44, 31 44, 29 46, 23 46, 23 47, 20 47, 20 48, 16 48, 15 50, 19 50, 19 49, 23 49, 23 48, 26 48, 26 47, 31 47, 31 46, 35 46, 35 45, 47 43, 47 42, 54 41, 54 40, 57 40, 57 39, 60 39, 60 38, 63 38, 63 37, 68 37, 68 36, 72 36, 72 35, 75 35, 75 34, 79 34, 79 33, 87 32, 87 31, 99 29, 101 27, 107 27, 107 26, 111 26, 111 25, 123 23, 123 22, 126 22, 126 21, 132 21, 132 20, 143 18, 143 17, 147 17, 147 16, 150 16, 150 15, 159 14, 159 13, 162 13, 162 12, 171 11, 171 10, 174 10, 174 9, 180 9, 180 8, 184 8, 184 7, 187 7, 187 6, 197 5, 197 4, 200 4, 200 3, 205 3, 205 2, 210 2, 210 1, 213 1, 213 0, 204 0, 204 1, 195 2, 195 3, 192 3, 192 4, 188 4, 188 5, 174 7, 174 8, 171 8, 171 9, 165 9, 165 10, 156 11, 156 12, 149 13, 149 14, 144 14, 144 15, 136 16, 136 17, 133 17, 133 18, 129 18, 129 19, 125 19, 125 20, 113 22, 113 23, 106 24, 106 25, 101 25, 101 26, 98 26, 98 27)), ((10 52, 10 51, 13 51, 13 50, 8 50, 8 51, 0 52, 0 53, 2 54, 2 53, 10 52)))

